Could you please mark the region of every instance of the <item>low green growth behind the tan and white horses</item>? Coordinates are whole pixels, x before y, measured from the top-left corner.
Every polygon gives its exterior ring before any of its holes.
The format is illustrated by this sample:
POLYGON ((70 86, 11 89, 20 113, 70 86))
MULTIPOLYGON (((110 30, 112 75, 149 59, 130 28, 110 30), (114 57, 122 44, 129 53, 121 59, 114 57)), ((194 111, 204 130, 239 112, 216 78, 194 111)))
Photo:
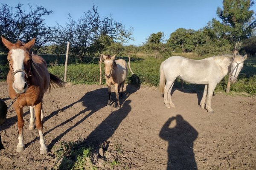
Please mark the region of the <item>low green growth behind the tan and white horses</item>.
MULTIPOLYGON (((182 53, 186 54, 186 53, 182 53)), ((183 57, 188 57, 192 59, 202 59, 197 55, 183 55, 183 57)), ((127 58, 123 57, 125 60, 127 58)), ((141 85, 158 87, 159 84, 159 67, 163 59, 155 59, 154 57, 143 57, 143 58, 131 58, 131 68, 137 77, 140 78, 141 85), (135 61, 133 61, 135 60, 135 61)), ((230 92, 246 92, 250 95, 256 94, 256 75, 247 75, 256 73, 256 59, 254 57, 249 57, 245 60, 241 74, 239 75, 238 82, 232 83, 230 87, 230 92), (247 64, 248 63, 248 64, 247 64), (251 64, 250 64, 251 63, 251 64)), ((64 78, 64 65, 49 66, 49 71, 61 78, 64 78)), ((102 71, 104 68, 102 65, 102 71)), ((227 87, 227 78, 224 79, 217 85, 215 91, 225 91, 227 87)), ((67 67, 67 81, 73 84, 98 84, 99 83, 99 64, 78 64, 78 65, 68 65, 67 67)), ((105 83, 104 73, 102 73, 102 83, 105 83)), ((128 71, 128 76, 126 83, 134 84, 135 78, 128 71)), ((174 88, 180 88, 180 80, 177 79, 174 88)), ((188 91, 202 91, 204 85, 192 85, 189 83, 184 83, 184 88, 188 91)))

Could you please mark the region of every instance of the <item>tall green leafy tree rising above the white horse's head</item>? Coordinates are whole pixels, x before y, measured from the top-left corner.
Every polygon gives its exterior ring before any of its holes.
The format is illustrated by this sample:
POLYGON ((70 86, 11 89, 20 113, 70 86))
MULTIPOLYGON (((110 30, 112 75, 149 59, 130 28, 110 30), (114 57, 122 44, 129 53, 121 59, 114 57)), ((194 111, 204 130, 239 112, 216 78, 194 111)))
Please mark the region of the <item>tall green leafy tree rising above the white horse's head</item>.
POLYGON ((213 27, 219 29, 221 37, 233 45, 249 38, 256 27, 254 11, 250 10, 253 4, 253 0, 223 0, 223 8, 217 8, 217 15, 222 22, 213 19, 213 27))

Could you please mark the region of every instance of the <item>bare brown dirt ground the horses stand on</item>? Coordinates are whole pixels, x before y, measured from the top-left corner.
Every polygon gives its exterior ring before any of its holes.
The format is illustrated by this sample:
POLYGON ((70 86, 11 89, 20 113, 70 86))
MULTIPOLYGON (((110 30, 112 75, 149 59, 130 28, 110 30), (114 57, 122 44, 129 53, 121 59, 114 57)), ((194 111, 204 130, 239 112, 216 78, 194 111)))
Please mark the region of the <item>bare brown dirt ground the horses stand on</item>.
MULTIPOLYGON (((0 98, 9 104, 6 82, 0 98)), ((0 126, 0 169, 51 169, 53 148, 61 141, 120 143, 123 162, 134 170, 255 170, 256 99, 244 96, 212 97, 208 113, 198 106, 201 93, 176 89, 168 109, 156 88, 127 85, 122 107, 108 103, 106 85, 67 85, 44 96, 44 139, 49 153, 40 155, 37 130, 28 130, 29 107, 24 111, 26 149, 16 153, 17 116, 13 108, 0 126)), ((112 99, 115 99, 112 93, 112 99)), ((103 168, 104 169, 104 168, 103 168)))

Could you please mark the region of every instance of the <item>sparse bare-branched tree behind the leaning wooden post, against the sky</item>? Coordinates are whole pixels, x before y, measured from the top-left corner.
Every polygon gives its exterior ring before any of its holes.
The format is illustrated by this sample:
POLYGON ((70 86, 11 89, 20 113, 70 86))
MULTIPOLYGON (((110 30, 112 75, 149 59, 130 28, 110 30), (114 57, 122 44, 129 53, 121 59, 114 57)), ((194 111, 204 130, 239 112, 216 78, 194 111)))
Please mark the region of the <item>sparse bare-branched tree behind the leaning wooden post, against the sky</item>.
POLYGON ((70 52, 78 55, 91 55, 101 53, 106 45, 111 42, 127 42, 133 40, 133 28, 125 29, 125 26, 113 20, 113 17, 100 17, 98 8, 92 7, 92 10, 84 12, 84 15, 78 21, 68 16, 69 23, 66 26, 55 27, 56 44, 63 47, 67 41, 70 42, 70 52), (106 42, 102 44, 102 42, 106 42))

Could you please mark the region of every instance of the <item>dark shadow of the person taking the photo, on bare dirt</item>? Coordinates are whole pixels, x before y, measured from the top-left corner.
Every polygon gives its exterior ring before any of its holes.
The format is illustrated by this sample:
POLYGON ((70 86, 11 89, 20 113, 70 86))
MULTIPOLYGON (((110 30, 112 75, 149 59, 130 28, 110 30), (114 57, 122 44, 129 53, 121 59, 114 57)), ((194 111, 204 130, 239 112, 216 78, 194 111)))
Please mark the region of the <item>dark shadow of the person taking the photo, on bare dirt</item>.
POLYGON ((193 142, 198 132, 181 115, 169 118, 159 136, 169 142, 167 170, 197 170, 193 142), (175 127, 169 128, 174 120, 175 127))

